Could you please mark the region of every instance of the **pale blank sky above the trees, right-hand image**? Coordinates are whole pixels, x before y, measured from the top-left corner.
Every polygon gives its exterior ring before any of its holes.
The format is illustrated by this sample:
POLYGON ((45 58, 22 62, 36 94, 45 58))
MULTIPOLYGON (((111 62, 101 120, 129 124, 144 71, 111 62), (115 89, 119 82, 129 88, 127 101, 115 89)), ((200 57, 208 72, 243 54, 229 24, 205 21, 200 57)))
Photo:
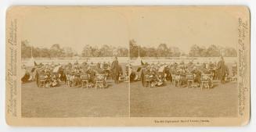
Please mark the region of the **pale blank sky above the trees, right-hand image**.
POLYGON ((132 37, 143 46, 165 43, 182 52, 189 52, 192 45, 236 48, 238 18, 232 11, 235 10, 141 9, 134 12, 132 37))

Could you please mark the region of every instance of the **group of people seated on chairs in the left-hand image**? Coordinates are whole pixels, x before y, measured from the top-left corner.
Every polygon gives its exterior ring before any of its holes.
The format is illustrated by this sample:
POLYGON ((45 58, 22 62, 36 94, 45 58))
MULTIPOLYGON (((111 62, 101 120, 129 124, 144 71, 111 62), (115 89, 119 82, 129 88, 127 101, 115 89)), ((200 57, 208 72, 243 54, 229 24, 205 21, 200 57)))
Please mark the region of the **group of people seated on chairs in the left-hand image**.
MULTIPOLYGON (((27 69, 23 66, 23 69, 27 69)), ((120 77, 123 75, 122 67, 119 66, 120 77)), ((41 80, 44 81, 45 87, 57 87, 63 84, 67 86, 81 86, 82 80, 88 80, 90 87, 94 87, 96 80, 99 80, 96 75, 101 75, 100 79, 106 81, 106 79, 112 79, 110 62, 79 62, 67 63, 66 65, 55 64, 38 64, 32 68, 32 70, 26 70, 21 79, 26 82, 33 76, 38 87, 41 87, 41 80)))

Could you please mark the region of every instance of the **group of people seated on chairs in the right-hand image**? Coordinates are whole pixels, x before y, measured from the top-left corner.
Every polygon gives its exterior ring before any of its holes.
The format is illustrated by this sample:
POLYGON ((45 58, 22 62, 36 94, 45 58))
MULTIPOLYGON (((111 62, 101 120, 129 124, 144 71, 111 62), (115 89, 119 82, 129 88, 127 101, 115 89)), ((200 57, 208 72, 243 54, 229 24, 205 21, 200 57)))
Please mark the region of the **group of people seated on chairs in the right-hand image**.
MULTIPOLYGON (((225 80, 229 77, 229 68, 228 66, 222 67, 225 75, 225 80)), ((236 76, 237 74, 237 65, 236 62, 232 65, 232 75, 236 76)), ((170 80, 171 84, 175 83, 176 77, 178 78, 178 85, 182 87, 188 86, 188 80, 192 80, 193 84, 198 84, 200 86, 200 81, 202 75, 207 75, 207 79, 217 80, 219 78, 218 74, 218 64, 215 62, 209 63, 193 63, 193 62, 173 62, 170 64, 160 63, 157 64, 144 64, 141 70, 141 80, 142 85, 145 86, 146 80, 150 80, 152 87, 162 86, 165 81, 170 80), (189 76, 191 75, 191 76, 189 76), (189 78, 188 78, 189 77, 189 78)))

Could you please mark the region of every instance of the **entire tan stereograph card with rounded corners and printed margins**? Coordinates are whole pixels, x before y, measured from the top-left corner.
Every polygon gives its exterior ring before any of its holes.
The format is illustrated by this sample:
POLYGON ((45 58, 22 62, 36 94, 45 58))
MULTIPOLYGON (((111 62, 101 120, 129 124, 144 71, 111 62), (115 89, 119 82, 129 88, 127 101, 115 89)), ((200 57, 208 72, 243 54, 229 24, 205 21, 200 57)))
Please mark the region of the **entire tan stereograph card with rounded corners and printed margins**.
POLYGON ((6 121, 21 126, 243 126, 246 6, 13 6, 6 121))

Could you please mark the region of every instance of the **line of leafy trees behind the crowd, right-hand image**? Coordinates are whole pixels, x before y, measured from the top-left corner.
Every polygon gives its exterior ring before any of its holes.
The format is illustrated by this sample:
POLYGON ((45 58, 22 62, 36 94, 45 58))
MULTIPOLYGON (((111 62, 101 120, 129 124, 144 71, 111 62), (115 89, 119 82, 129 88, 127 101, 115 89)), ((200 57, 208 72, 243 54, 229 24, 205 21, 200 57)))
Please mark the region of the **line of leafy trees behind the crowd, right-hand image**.
POLYGON ((178 47, 168 47, 166 44, 160 44, 157 48, 142 47, 136 44, 135 40, 129 41, 130 56, 131 57, 218 57, 220 55, 225 57, 236 57, 236 48, 221 47, 218 45, 204 46, 193 45, 188 53, 181 52, 178 47))

